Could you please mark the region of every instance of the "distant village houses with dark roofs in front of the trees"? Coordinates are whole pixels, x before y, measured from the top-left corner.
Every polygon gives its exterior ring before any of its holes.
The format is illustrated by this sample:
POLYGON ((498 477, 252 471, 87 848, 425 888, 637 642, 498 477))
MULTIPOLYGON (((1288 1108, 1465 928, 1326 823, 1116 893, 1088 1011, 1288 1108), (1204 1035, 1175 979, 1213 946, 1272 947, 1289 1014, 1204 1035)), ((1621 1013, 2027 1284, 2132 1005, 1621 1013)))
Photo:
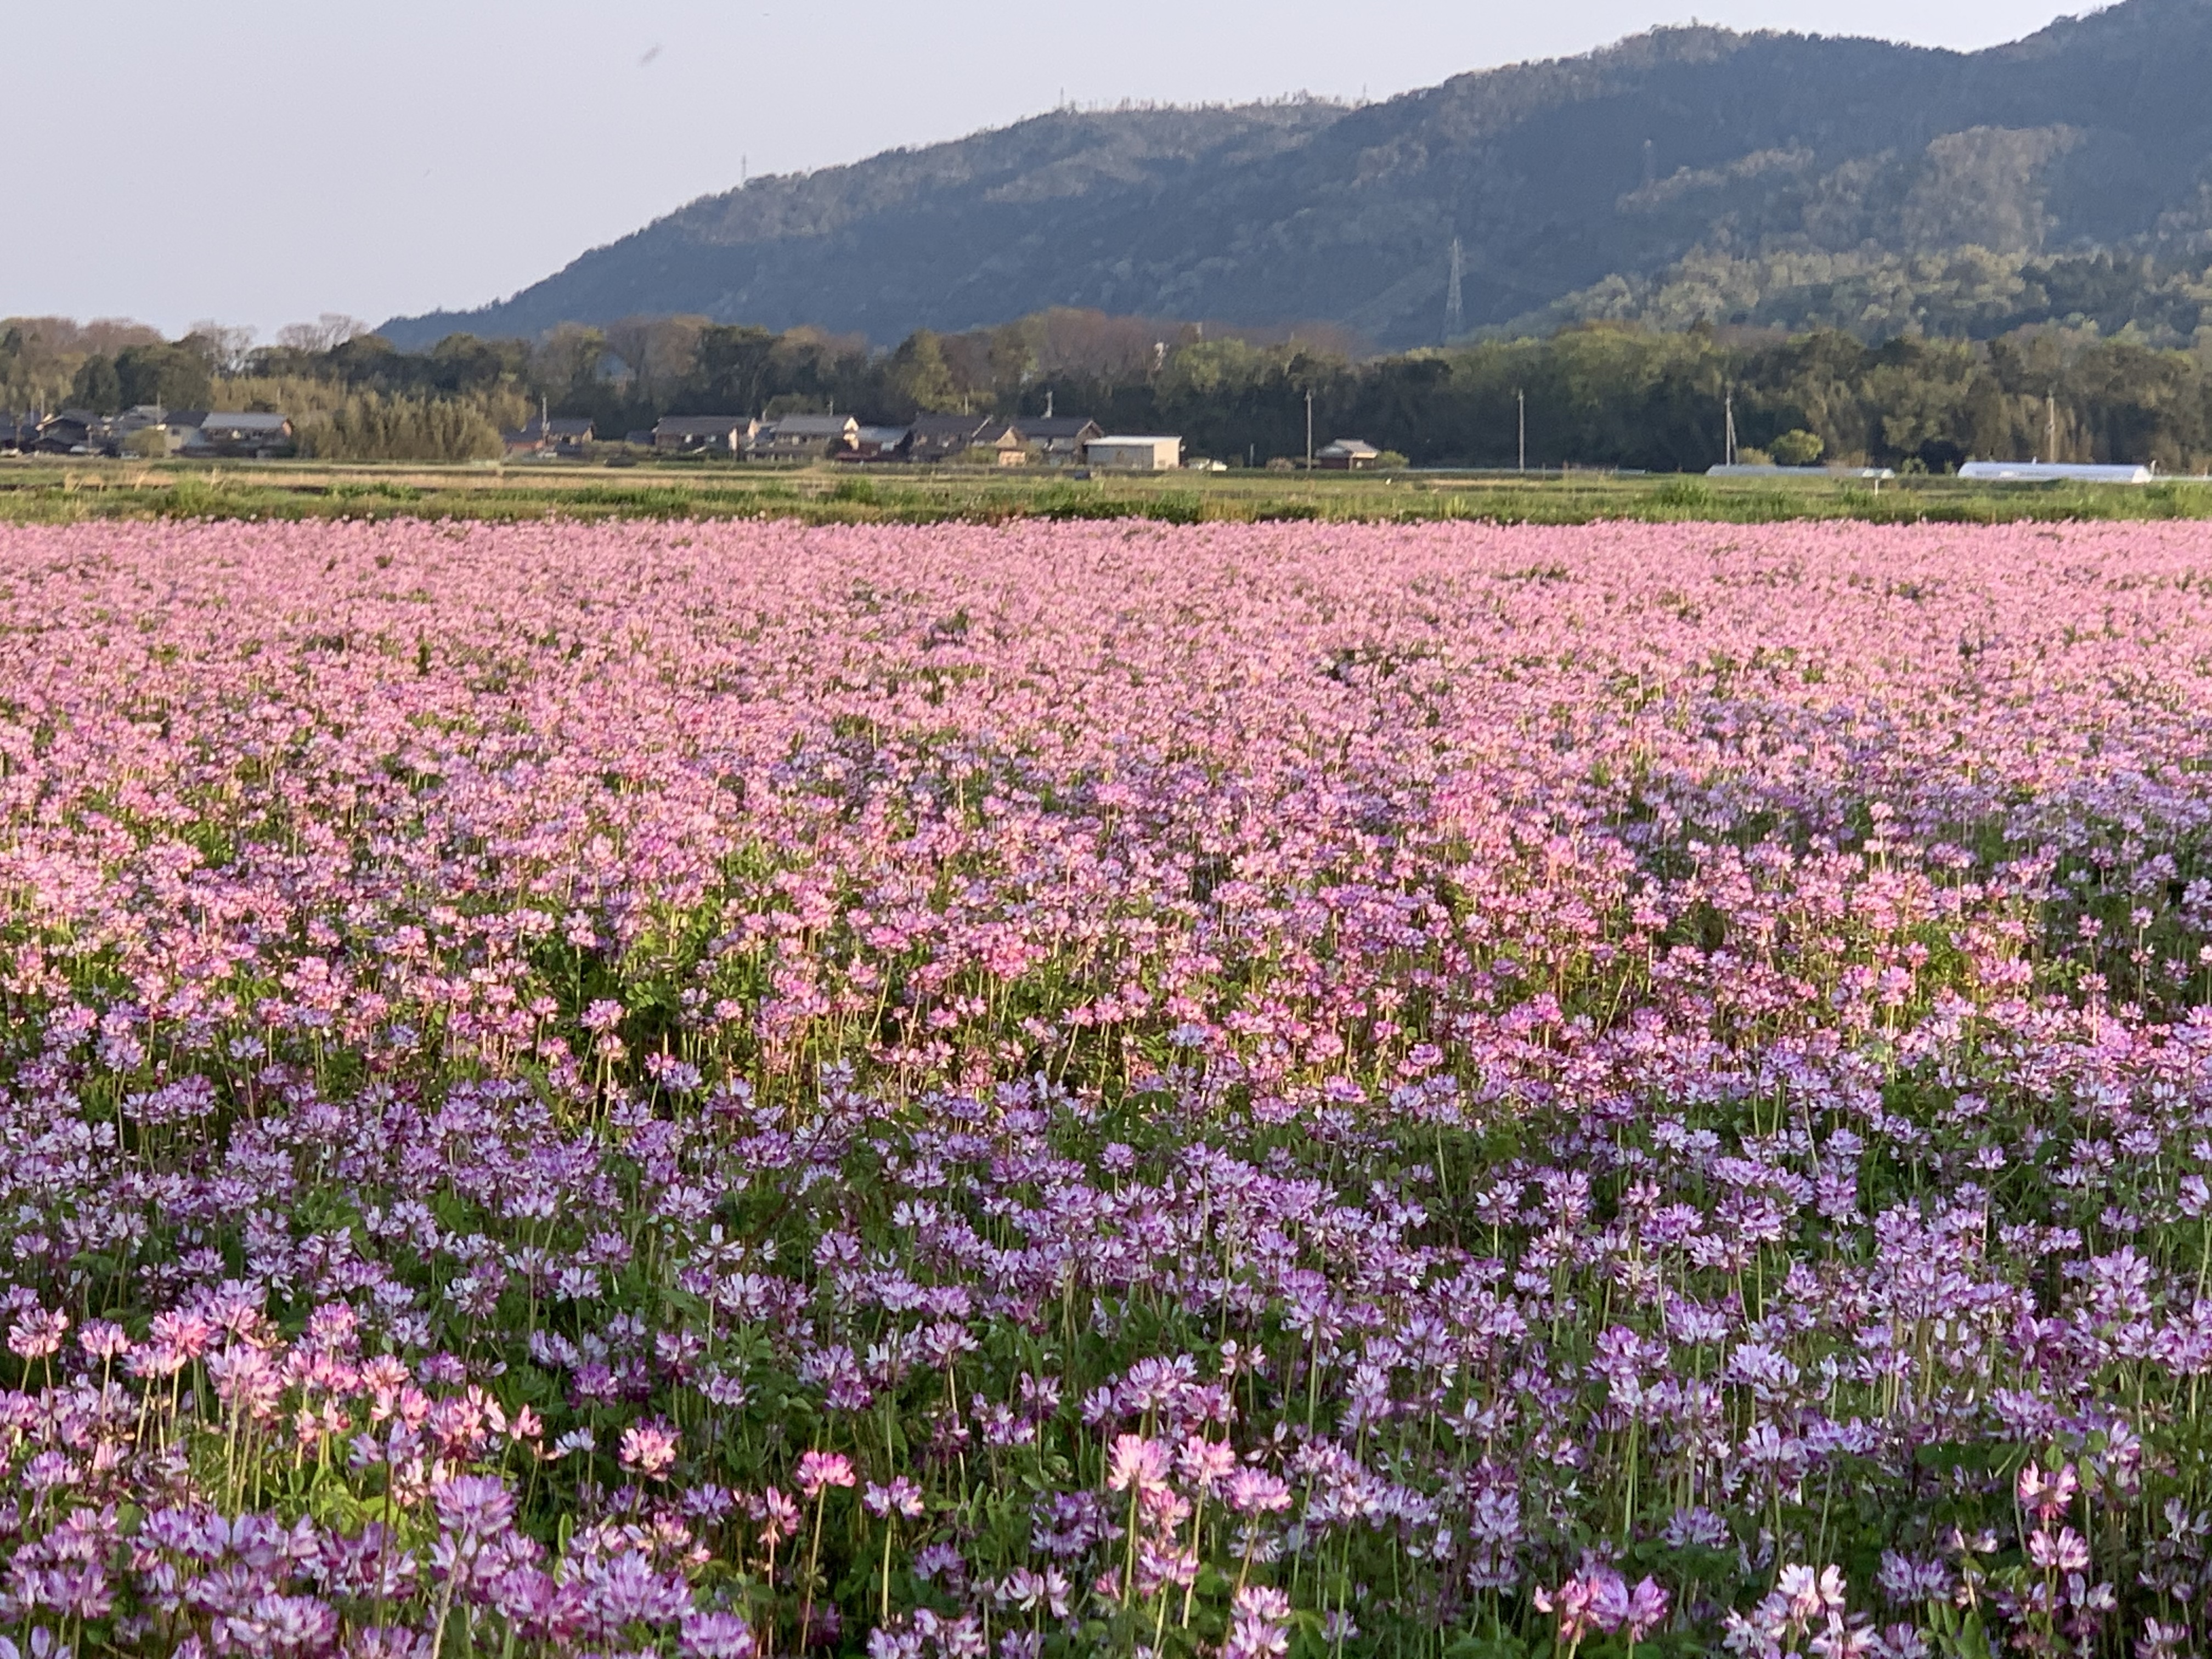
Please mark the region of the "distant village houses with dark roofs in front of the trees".
MULTIPOLYGON (((157 460, 232 458, 279 460, 292 451, 292 420, 283 414, 161 409, 139 405, 115 416, 64 409, 40 416, 0 414, 0 453, 111 456, 157 460)), ((650 429, 602 438, 591 420, 540 414, 504 431, 509 460, 586 460, 650 451, 757 462, 838 462, 854 467, 982 465, 1060 467, 1115 473, 1225 471, 1225 462, 1186 458, 1179 436, 1108 434, 1088 416, 969 416, 925 414, 905 427, 869 427, 854 416, 785 414, 664 416, 650 429)), ((1385 453, 1358 438, 1338 438, 1312 453, 1323 471, 1369 471, 1385 453)))

